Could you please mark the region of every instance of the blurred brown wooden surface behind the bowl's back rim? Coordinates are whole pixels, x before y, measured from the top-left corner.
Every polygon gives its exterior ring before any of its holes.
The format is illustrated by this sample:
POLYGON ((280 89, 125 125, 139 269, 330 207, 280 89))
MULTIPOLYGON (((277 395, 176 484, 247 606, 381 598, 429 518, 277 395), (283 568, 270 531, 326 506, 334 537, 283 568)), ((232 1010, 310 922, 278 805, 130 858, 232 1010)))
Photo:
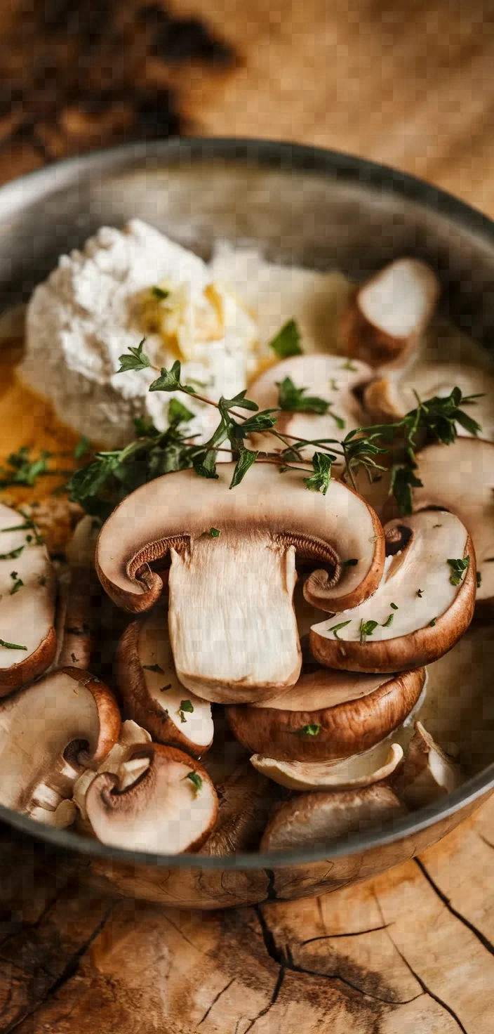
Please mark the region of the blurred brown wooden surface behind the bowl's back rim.
POLYGON ((0 51, 0 181, 144 136, 270 136, 494 214, 488 0, 3 0, 0 51))

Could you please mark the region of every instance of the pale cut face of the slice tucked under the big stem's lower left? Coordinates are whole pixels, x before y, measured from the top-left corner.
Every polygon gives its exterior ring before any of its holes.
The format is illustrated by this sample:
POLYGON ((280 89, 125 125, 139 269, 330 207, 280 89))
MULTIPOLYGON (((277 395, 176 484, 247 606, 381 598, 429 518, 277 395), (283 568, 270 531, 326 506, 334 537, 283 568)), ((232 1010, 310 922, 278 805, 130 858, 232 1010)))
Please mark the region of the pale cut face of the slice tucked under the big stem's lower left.
POLYGON ((172 653, 166 611, 157 607, 143 621, 138 634, 138 657, 146 689, 157 707, 179 731, 197 747, 207 748, 214 734, 211 703, 185 690, 172 653), (156 670, 158 669, 158 670, 156 670), (185 703, 185 707, 182 705, 185 703))

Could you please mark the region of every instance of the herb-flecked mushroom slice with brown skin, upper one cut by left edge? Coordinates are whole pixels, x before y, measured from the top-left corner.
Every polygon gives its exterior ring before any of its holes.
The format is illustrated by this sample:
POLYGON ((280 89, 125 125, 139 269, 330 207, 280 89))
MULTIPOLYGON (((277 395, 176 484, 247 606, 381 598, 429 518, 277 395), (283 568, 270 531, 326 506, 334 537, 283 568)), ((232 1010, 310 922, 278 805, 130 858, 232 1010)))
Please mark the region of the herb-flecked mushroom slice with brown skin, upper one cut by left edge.
POLYGON ((55 572, 32 521, 0 505, 0 697, 51 665, 55 572))

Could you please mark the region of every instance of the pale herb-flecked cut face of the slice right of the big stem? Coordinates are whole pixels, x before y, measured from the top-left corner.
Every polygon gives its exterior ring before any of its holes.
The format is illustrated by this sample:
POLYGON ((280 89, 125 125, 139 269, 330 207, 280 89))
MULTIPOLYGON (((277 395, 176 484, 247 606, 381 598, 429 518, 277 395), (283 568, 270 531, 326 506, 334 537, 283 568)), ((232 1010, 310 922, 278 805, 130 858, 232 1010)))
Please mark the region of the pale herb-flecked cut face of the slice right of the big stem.
POLYGON ((461 582, 452 584, 453 570, 447 560, 463 559, 465 526, 454 514, 432 510, 403 518, 401 523, 411 528, 412 539, 391 558, 377 591, 359 607, 312 626, 317 635, 333 639, 334 626, 348 620, 336 636, 357 642, 362 622, 372 620, 378 624, 370 641, 394 639, 426 628, 452 606, 461 582))

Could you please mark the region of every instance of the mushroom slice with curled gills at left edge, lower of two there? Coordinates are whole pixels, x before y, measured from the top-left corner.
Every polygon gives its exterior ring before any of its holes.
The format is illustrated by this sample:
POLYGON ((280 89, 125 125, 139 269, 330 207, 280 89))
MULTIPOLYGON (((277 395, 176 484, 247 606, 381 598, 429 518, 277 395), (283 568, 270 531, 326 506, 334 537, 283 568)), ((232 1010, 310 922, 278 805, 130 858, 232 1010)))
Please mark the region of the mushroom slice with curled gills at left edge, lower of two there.
POLYGON ((117 742, 120 711, 103 682, 63 668, 4 701, 0 730, 0 803, 59 824, 75 780, 117 742))

